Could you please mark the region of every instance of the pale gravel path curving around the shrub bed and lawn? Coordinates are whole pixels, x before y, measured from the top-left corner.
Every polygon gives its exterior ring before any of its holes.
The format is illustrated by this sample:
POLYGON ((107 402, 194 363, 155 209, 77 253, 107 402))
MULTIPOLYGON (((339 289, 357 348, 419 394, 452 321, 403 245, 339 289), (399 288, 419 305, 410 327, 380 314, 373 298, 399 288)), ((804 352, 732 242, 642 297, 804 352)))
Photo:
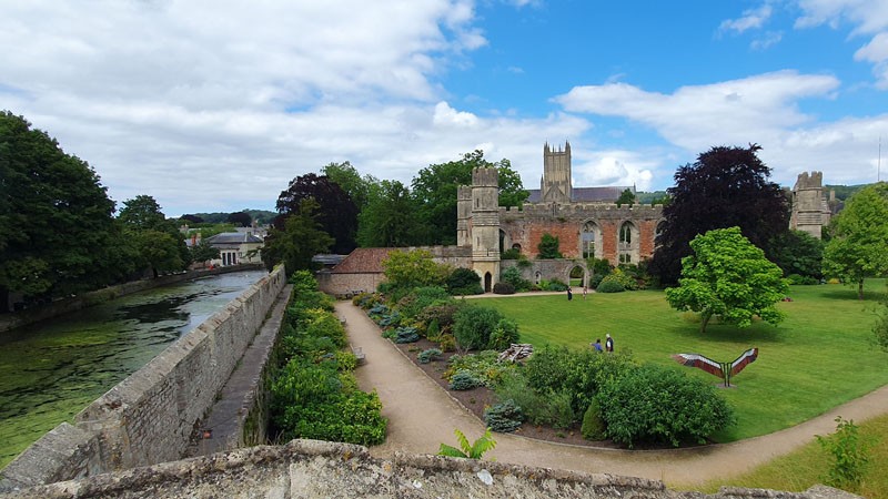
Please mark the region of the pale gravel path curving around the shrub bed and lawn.
MULTIPOLYGON (((436 454, 442 442, 455 445, 454 428, 465 432, 470 440, 484 432, 482 421, 383 338, 380 328, 361 308, 351 302, 340 302, 336 313, 346 320, 350 343, 361 347, 366 355, 365 364, 355 370, 359 385, 361 389, 379 393, 382 414, 389 418, 385 442, 371 448, 372 455, 391 457, 396 450, 436 454)), ((838 415, 860 422, 882 414, 888 414, 888 386, 791 428, 730 444, 688 449, 620 450, 496 434, 496 449, 485 458, 544 468, 642 477, 685 488, 740 475, 809 442, 815 435, 833 432, 838 415)))

